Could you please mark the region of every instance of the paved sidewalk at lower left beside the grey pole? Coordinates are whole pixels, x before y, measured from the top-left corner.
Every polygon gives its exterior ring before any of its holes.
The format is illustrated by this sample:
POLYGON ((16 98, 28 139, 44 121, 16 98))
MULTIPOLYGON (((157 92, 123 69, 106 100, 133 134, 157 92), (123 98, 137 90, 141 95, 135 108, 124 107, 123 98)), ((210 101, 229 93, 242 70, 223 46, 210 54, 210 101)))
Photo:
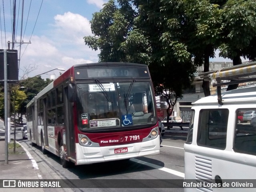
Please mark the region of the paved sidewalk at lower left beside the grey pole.
MULTIPOLYGON (((37 179, 39 170, 33 167, 32 161, 22 148, 13 148, 8 150, 8 164, 5 164, 5 140, 4 133, 0 133, 0 180, 13 180, 13 179, 37 179)), ((2 184, 0 184, 2 186, 2 184)), ((43 188, 0 188, 0 192, 44 192, 43 188)))

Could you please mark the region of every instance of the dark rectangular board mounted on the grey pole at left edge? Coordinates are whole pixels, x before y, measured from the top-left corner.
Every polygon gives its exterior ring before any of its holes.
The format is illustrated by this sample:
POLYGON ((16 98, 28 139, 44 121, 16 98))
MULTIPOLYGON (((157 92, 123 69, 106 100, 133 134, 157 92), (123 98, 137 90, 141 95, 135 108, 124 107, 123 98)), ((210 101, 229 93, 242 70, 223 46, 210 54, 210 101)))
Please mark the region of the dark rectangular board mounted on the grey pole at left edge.
MULTIPOLYGON (((7 50, 8 83, 18 81, 18 50, 7 50)), ((4 83, 4 50, 0 49, 0 83, 4 83)))

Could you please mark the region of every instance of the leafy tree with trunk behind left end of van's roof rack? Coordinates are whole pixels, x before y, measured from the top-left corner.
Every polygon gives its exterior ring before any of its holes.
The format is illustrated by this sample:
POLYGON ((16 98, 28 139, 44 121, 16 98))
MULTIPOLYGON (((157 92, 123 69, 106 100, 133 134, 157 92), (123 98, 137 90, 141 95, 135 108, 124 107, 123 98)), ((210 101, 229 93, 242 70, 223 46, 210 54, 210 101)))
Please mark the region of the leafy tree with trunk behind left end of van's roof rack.
MULTIPOLYGON (((204 65, 204 72, 209 71, 209 58, 214 58, 214 51, 220 45, 222 10, 216 3, 221 2, 223 1, 184 0, 185 14, 191 24, 188 51, 194 56, 195 65, 204 65)), ((204 95, 209 96, 209 82, 203 81, 202 87, 204 95)))

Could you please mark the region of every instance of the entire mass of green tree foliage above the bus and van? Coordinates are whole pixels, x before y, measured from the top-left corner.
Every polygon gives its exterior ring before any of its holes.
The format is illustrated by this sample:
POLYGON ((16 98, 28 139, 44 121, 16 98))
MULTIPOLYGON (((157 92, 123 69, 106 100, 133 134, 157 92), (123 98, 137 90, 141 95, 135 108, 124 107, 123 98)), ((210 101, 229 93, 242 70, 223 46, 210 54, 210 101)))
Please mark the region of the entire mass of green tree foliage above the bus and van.
POLYGON ((216 49, 234 64, 256 58, 255 10, 255 0, 110 0, 84 41, 100 50, 99 61, 147 64, 156 94, 178 98, 216 49))

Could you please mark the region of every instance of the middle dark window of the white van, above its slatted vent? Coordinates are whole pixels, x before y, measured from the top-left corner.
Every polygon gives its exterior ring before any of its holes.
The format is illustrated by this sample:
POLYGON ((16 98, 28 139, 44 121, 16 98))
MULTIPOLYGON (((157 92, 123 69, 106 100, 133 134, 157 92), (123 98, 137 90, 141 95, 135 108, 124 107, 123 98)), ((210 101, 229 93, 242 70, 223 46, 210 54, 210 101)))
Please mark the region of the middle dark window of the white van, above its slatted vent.
POLYGON ((228 109, 200 111, 197 144, 224 150, 228 125, 228 109))

